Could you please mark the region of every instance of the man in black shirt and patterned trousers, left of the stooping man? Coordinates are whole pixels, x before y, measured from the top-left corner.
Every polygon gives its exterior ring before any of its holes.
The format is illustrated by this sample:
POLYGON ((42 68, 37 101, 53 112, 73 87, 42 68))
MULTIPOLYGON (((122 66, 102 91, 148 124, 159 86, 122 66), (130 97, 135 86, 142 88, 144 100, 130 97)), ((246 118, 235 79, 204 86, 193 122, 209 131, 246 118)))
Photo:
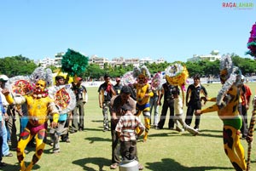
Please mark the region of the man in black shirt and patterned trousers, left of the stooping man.
POLYGON ((98 88, 99 105, 102 108, 103 114, 103 131, 109 131, 108 110, 110 112, 110 100, 115 95, 113 84, 110 83, 108 74, 104 76, 104 83, 98 88))

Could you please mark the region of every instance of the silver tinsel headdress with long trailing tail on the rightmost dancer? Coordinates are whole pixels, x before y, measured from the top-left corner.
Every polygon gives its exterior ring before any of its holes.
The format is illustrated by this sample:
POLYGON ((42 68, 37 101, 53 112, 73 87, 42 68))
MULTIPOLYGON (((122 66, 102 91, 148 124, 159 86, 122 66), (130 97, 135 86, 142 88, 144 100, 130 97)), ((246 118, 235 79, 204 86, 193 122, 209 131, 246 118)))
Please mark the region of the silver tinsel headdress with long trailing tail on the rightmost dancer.
MULTIPOLYGON (((220 71, 225 73, 225 83, 219 90, 216 104, 223 104, 224 95, 229 91, 231 86, 235 83, 236 86, 241 85, 241 71, 238 67, 233 66, 230 54, 223 55, 220 60, 220 71)), ((222 76, 223 77, 223 76, 222 76)))

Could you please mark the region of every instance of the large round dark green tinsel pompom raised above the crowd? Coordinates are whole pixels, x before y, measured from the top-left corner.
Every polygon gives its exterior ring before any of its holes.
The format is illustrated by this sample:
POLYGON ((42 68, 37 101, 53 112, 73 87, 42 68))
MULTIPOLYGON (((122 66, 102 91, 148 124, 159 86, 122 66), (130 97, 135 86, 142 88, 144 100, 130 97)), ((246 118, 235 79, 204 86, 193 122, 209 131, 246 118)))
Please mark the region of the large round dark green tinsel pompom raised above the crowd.
POLYGON ((61 71, 67 72, 72 77, 79 75, 85 71, 88 60, 88 56, 68 48, 67 53, 63 55, 61 60, 61 71))

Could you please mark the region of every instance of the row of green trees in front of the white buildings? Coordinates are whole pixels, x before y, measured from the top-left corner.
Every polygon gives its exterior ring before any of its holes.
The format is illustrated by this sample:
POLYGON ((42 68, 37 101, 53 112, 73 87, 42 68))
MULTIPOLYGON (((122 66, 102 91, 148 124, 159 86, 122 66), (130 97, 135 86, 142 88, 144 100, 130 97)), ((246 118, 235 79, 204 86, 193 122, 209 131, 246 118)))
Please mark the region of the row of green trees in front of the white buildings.
MULTIPOLYGON (((251 76, 255 74, 255 60, 252 60, 250 58, 241 58, 236 54, 231 54, 231 58, 234 65, 240 68, 243 75, 251 76)), ((184 66, 187 67, 189 71, 189 77, 193 77, 197 73, 200 73, 201 77, 218 77, 219 62, 219 60, 215 60, 212 62, 209 60, 201 60, 197 62, 188 61, 182 63, 184 66)), ((154 73, 158 71, 165 71, 167 66, 172 65, 172 63, 146 63, 144 65, 147 66, 150 73, 154 75, 154 73)), ((26 58, 22 55, 0 58, 0 74, 7 75, 8 77, 30 75, 32 71, 34 71, 34 69, 37 67, 38 66, 34 63, 33 60, 30 60, 29 58, 26 58)), ((53 72, 55 72, 57 69, 55 66, 49 66, 49 68, 53 72)), ((84 73, 79 77, 84 77, 86 79, 100 79, 105 74, 108 74, 110 77, 121 77, 127 71, 132 70, 132 65, 109 66, 108 63, 105 63, 104 68, 101 69, 100 66, 96 64, 90 64, 89 66, 87 66, 84 73)))

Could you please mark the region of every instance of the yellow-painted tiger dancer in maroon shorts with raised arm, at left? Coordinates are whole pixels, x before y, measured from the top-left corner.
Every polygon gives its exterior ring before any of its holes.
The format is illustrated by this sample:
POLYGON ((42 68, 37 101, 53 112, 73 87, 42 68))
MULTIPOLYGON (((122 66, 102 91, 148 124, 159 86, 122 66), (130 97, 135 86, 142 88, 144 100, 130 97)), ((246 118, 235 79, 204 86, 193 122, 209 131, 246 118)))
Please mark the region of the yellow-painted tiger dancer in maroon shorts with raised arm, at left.
POLYGON ((55 128, 58 123, 58 110, 55 107, 55 102, 49 98, 48 94, 44 91, 46 82, 38 80, 32 94, 24 95, 17 98, 12 98, 9 90, 3 89, 3 94, 9 104, 20 105, 26 103, 29 121, 25 130, 20 134, 20 141, 17 146, 17 158, 20 162, 20 171, 30 171, 32 167, 42 157, 45 141, 48 116, 53 117, 51 127, 55 128), (25 148, 32 137, 35 136, 36 152, 32 157, 32 162, 26 167, 25 165, 25 148))

